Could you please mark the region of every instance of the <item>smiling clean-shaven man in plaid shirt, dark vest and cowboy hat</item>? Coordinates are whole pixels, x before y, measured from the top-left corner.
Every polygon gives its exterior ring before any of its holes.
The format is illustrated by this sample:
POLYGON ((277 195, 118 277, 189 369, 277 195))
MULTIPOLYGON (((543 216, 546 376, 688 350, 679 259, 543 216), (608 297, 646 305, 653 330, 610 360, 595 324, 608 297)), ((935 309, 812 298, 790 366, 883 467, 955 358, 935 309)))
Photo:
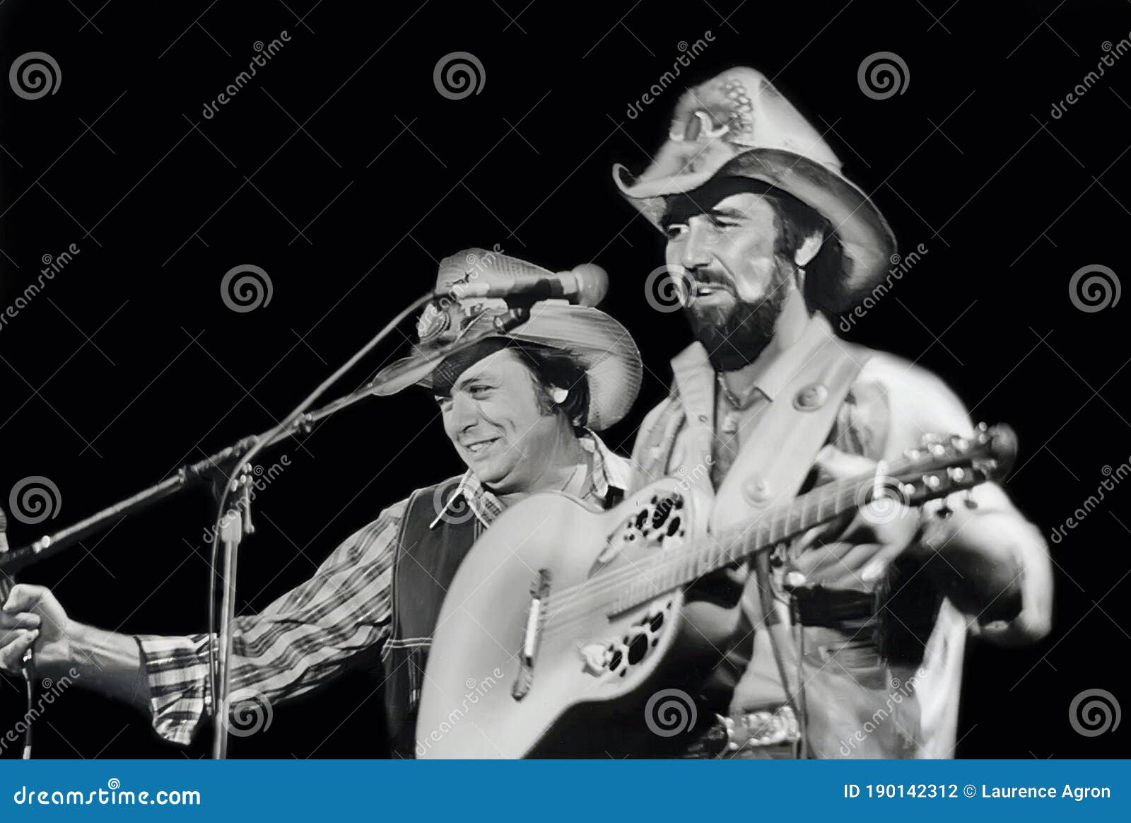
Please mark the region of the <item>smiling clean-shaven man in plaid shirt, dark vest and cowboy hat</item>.
MULTIPOLYGON (((469 250, 440 265, 437 293, 469 276, 549 275, 501 254, 469 250)), ((604 312, 537 304, 507 336, 492 321, 501 301, 441 297, 417 324, 420 345, 389 366, 388 391, 432 391, 443 428, 467 466, 413 492, 338 546, 309 581, 261 614, 236 618, 233 704, 277 703, 308 693, 380 649, 395 754, 413 756, 421 682, 444 591, 472 544, 504 508, 535 492, 562 491, 595 506, 620 501, 628 461, 595 434, 636 399, 636 344, 604 312), (474 345, 441 358, 439 346, 474 345)), ((0 612, 0 667, 18 672, 34 646, 37 670, 148 712, 157 734, 187 744, 210 710, 207 634, 131 636, 81 625, 50 590, 16 586, 0 612)), ((468 673, 474 674, 474 673, 468 673)))

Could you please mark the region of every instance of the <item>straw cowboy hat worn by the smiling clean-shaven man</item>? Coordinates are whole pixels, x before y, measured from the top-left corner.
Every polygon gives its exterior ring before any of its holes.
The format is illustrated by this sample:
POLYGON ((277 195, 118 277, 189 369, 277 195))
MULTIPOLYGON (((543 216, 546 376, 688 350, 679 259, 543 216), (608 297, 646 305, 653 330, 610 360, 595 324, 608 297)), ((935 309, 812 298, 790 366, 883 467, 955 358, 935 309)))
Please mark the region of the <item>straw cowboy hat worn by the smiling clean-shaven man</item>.
MULTIPOLYGON (((413 354, 378 374, 378 382, 388 382, 377 393, 392 395, 409 385, 432 388, 438 382, 450 382, 474 362, 467 355, 446 357, 439 350, 457 340, 536 344, 569 353, 585 370, 589 384, 589 428, 601 431, 620 421, 636 400, 644 367, 636 341, 618 321, 597 309, 549 300, 536 303, 525 323, 500 333, 494 319, 507 314, 503 301, 459 296, 460 285, 476 279, 490 283, 500 276, 550 274, 525 260, 483 249, 467 249, 444 258, 435 280, 438 296, 416 323, 420 343, 413 346, 413 354)), ((498 350, 498 347, 472 348, 475 359, 477 350, 498 350)))

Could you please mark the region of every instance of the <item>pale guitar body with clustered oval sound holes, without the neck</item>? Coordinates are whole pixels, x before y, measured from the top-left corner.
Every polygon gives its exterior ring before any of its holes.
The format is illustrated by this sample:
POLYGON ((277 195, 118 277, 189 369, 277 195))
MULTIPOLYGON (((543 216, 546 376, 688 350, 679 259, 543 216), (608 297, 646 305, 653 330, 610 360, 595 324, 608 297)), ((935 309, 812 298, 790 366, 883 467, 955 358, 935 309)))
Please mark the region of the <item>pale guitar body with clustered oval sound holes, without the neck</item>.
POLYGON ((717 664, 741 595, 724 575, 714 601, 690 603, 636 574, 703 538, 709 504, 687 486, 659 480, 607 512, 538 494, 492 525, 444 598, 417 756, 664 756, 681 746, 694 712, 687 695, 717 664), (650 599, 615 612, 625 580, 650 599), (649 704, 665 688, 685 694, 649 704))

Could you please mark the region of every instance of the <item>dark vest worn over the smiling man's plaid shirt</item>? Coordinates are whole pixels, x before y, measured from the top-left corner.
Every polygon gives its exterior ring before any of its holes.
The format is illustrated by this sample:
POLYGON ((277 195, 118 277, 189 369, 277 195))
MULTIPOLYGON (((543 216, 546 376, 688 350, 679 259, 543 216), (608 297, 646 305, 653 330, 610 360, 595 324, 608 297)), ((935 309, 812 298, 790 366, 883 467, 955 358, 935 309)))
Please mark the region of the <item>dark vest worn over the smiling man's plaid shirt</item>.
POLYGON ((456 477, 413 492, 397 536, 392 631, 385 642, 381 665, 389 745, 403 757, 415 753, 421 684, 444 592, 483 531, 465 501, 452 502, 443 517, 437 517, 458 487, 456 477))

